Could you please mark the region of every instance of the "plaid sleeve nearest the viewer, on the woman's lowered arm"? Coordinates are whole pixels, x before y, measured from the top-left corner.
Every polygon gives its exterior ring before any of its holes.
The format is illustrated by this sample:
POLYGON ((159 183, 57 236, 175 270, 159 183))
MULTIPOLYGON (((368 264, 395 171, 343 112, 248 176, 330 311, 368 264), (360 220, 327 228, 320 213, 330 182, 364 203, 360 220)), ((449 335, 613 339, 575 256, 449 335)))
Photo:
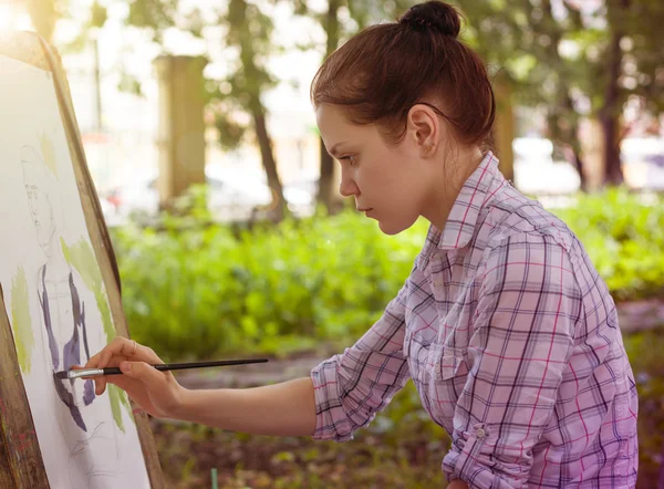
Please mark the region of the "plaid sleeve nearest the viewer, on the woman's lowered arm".
POLYGON ((489 251, 443 461, 448 480, 479 489, 527 486, 581 311, 569 254, 551 238, 506 238, 489 251))

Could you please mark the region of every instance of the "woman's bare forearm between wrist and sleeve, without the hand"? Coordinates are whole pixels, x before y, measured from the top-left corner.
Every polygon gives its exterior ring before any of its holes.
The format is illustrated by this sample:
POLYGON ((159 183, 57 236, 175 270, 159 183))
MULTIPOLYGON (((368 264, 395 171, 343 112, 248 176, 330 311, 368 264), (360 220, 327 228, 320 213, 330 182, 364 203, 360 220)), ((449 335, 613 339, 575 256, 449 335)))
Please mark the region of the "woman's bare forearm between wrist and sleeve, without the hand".
POLYGON ((311 378, 243 389, 183 391, 172 417, 231 431, 311 436, 315 402, 311 378))

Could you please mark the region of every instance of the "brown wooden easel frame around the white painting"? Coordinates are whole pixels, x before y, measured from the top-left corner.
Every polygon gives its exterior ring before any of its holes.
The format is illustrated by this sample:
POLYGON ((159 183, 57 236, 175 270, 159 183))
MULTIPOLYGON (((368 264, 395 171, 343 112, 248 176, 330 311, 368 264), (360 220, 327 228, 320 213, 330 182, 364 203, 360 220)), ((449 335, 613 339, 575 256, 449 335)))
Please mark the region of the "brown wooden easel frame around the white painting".
MULTIPOLYGON (((13 58, 53 74, 85 222, 102 272, 113 323, 118 335, 128 336, 122 309, 120 274, 115 254, 87 169, 61 60, 41 38, 29 32, 0 35, 0 55, 13 58)), ((153 489, 163 489, 165 486, 162 469, 147 415, 136 409, 134 404, 132 407, 151 486, 153 489)), ((46 489, 49 487, 17 358, 13 335, 0 290, 0 489, 46 489)))

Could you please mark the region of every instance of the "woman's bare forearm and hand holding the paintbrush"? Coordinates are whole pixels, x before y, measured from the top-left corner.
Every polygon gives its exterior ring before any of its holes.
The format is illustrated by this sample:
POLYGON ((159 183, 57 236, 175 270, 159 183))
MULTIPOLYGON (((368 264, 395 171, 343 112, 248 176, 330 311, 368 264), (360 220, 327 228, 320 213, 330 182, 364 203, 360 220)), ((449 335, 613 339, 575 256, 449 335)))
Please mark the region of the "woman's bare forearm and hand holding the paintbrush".
POLYGON ((162 363, 152 348, 118 336, 85 368, 120 366, 124 375, 94 378, 96 394, 107 383, 115 384, 152 416, 262 435, 312 435, 315 429, 310 378, 246 389, 189 391, 170 372, 151 366, 162 363))

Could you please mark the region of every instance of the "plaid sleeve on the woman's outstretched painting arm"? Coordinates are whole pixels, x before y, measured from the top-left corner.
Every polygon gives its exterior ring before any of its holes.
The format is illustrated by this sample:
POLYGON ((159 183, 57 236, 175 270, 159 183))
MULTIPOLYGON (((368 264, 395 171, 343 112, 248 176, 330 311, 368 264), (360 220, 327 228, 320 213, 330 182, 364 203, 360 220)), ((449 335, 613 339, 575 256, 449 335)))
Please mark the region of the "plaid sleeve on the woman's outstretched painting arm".
POLYGON ((353 346, 311 371, 314 439, 353 439, 411 378, 403 354, 406 288, 353 346))

